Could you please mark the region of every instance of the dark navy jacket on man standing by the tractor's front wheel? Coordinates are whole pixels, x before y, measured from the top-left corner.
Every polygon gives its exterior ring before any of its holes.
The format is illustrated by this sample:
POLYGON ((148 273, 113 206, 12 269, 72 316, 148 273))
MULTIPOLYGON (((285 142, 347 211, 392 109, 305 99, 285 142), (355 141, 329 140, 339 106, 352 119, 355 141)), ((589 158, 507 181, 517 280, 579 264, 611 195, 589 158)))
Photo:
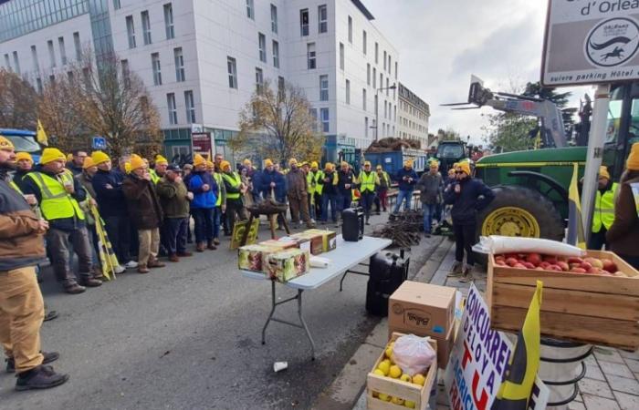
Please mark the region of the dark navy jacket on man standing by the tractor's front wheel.
POLYGON ((444 202, 452 204, 453 223, 476 223, 477 210, 483 210, 495 199, 495 194, 481 179, 466 178, 450 185, 444 192, 444 202), (456 193, 456 185, 461 191, 456 193))

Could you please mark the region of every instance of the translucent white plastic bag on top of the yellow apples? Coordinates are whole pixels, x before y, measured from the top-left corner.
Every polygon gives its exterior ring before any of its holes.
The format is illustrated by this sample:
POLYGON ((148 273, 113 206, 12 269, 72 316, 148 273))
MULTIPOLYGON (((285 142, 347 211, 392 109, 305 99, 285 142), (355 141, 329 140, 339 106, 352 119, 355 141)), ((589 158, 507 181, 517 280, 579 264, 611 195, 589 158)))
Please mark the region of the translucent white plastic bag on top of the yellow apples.
POLYGON ((400 336, 393 346, 393 359, 400 366, 402 372, 413 377, 424 374, 433 364, 437 353, 428 343, 429 337, 419 337, 414 334, 400 336))

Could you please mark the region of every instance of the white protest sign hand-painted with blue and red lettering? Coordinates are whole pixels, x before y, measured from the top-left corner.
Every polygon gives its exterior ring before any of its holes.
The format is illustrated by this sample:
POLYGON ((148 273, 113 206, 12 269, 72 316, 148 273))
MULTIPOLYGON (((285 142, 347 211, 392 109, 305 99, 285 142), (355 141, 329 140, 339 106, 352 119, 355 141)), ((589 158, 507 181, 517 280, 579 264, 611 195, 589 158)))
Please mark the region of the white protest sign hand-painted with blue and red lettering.
MULTIPOLYGON (((508 368, 513 345, 504 333, 490 329, 490 311, 481 293, 471 285, 466 309, 450 360, 445 388, 452 410, 489 410, 508 368)), ((539 377, 530 395, 529 409, 541 410, 549 390, 539 377)))

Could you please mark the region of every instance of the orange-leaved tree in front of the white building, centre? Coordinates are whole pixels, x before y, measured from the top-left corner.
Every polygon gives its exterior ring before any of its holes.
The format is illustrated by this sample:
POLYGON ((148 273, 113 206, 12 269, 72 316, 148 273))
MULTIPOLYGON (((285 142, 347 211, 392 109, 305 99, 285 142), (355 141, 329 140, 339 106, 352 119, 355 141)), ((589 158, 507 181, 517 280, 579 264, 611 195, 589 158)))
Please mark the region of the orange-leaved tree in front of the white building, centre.
POLYGON ((311 108, 301 88, 284 83, 274 90, 267 81, 240 112, 240 132, 229 145, 277 161, 319 159, 324 137, 311 108))

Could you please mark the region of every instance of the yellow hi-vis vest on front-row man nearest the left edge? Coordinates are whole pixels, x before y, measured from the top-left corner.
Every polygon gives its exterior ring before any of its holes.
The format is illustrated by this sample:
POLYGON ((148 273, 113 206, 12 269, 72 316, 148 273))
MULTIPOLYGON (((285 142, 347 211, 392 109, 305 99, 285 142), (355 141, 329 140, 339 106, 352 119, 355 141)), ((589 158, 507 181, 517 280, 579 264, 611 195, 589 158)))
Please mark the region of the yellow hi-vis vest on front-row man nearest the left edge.
POLYGON ((36 182, 40 189, 42 201, 40 210, 46 220, 61 220, 64 218, 78 218, 84 220, 84 212, 80 209, 78 201, 65 189, 64 183, 73 183, 73 174, 65 170, 58 179, 51 178, 42 172, 30 172, 26 174, 36 182))

